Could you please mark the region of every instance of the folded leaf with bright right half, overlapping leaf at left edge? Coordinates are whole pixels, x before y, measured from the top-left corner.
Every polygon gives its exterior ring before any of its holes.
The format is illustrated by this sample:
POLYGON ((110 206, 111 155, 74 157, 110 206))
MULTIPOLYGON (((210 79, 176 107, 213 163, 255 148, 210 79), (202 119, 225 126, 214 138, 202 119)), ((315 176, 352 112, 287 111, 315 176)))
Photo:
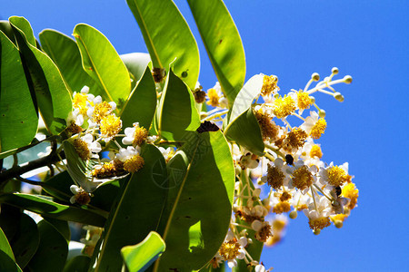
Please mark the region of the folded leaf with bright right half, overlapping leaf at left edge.
POLYGON ((24 56, 35 98, 47 130, 59 134, 65 130, 72 110, 70 93, 55 63, 31 41, 33 30, 23 17, 10 17, 18 48, 24 56))

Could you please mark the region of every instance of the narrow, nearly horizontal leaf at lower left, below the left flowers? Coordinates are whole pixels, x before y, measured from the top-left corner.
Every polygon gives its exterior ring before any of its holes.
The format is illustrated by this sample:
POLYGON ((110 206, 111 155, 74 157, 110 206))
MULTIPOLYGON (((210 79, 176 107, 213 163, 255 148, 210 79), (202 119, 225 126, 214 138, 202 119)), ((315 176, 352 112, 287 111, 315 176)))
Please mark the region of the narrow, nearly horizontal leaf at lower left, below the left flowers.
POLYGON ((105 224, 105 218, 91 210, 58 204, 43 196, 21 193, 4 194, 0 196, 0 203, 7 203, 54 219, 74 221, 97 227, 103 227, 105 224))

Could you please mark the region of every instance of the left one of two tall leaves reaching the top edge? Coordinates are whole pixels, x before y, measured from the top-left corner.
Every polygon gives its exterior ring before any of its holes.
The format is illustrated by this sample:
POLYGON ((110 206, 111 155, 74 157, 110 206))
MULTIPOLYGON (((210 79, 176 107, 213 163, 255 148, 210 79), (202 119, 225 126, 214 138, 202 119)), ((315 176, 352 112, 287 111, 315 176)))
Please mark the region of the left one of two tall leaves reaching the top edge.
POLYGON ((156 68, 175 61, 175 73, 191 90, 199 77, 199 50, 185 18, 171 0, 126 0, 156 68), (185 76, 184 76, 185 75, 185 76))

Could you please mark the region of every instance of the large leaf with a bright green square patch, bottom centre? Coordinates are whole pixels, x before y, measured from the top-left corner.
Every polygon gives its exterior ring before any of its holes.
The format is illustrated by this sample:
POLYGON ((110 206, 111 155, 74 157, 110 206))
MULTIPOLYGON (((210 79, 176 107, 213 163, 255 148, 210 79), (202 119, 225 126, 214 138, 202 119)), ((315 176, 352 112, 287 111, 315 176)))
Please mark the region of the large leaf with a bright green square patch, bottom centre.
POLYGON ((155 271, 198 270, 222 245, 232 215, 234 165, 223 133, 192 134, 168 170, 175 187, 161 221, 166 251, 155 271))

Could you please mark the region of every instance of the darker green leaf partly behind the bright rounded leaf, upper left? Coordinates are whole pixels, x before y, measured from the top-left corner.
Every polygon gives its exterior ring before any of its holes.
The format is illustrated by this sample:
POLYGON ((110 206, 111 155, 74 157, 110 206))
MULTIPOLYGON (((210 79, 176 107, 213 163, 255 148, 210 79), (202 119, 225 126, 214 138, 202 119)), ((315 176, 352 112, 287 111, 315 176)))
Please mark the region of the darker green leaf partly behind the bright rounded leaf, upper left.
POLYGON ((39 34, 43 51, 54 61, 71 92, 80 92, 86 85, 90 93, 102 95, 103 89, 86 73, 75 40, 52 29, 39 34))

